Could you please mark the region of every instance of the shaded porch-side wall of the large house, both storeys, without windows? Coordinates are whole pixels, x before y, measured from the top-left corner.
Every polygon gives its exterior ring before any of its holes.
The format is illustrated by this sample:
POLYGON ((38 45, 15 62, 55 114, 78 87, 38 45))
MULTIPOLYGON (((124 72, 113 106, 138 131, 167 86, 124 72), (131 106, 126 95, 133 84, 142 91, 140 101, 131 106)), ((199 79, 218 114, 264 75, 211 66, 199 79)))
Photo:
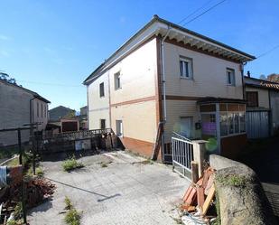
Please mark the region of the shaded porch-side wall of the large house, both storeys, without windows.
POLYGON ((165 76, 167 123, 165 143, 171 141, 172 131, 179 131, 181 117, 193 117, 194 138, 201 131, 195 129, 200 122, 198 98, 243 98, 243 86, 239 64, 207 54, 194 52, 172 43, 165 43, 165 76), (180 56, 192 59, 193 79, 181 79, 180 56), (235 70, 236 86, 227 85, 227 68, 235 70), (183 99, 184 98, 184 99, 183 99))

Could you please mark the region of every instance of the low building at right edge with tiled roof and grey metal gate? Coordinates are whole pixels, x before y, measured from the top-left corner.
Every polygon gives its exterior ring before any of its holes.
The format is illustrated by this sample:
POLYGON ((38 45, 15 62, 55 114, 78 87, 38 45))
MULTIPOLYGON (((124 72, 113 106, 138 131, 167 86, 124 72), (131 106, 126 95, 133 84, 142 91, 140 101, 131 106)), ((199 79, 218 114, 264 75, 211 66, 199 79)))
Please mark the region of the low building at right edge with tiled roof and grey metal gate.
POLYGON ((249 138, 273 136, 279 131, 279 83, 245 77, 246 129, 249 138))

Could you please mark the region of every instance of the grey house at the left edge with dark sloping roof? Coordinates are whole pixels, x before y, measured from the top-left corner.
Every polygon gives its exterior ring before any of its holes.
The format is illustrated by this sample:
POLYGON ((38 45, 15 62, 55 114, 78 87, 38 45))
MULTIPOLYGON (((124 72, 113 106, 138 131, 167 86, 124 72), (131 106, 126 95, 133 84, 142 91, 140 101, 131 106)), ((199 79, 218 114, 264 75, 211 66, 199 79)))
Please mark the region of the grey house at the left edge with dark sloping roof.
MULTIPOLYGON (((7 80, 0 80, 0 129, 23 127, 39 123, 43 131, 48 123, 48 104, 51 103, 38 93, 25 89, 7 80)), ((22 142, 29 141, 30 131, 22 131, 22 142)), ((14 131, 0 133, 0 145, 17 144, 14 131)))

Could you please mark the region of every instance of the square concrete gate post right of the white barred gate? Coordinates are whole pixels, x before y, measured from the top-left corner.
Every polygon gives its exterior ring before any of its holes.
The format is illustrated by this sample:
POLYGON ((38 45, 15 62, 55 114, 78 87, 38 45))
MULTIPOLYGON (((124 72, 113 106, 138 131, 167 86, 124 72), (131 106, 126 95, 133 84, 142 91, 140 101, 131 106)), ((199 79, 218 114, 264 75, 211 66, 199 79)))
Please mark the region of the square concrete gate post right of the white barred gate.
POLYGON ((193 142, 194 161, 199 164, 199 176, 202 176, 203 161, 205 159, 205 154, 206 154, 205 144, 207 143, 207 141, 197 140, 192 142, 193 142))

